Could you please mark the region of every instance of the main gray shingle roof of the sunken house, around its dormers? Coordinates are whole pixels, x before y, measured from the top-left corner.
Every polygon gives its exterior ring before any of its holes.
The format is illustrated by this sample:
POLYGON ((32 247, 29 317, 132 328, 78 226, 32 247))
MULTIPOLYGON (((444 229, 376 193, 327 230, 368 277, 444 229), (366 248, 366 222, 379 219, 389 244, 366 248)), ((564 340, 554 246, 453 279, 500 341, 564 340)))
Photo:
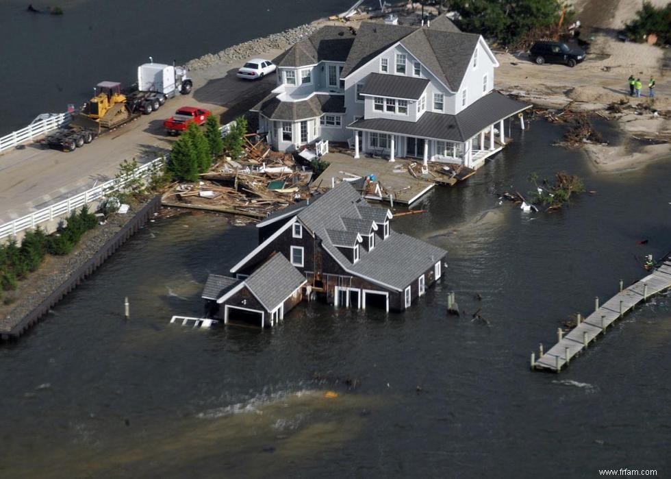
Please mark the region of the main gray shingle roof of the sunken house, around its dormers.
POLYGON ((377 242, 372 251, 361 249, 359 261, 352 264, 333 245, 331 231, 342 230, 342 218, 362 218, 359 211, 364 211, 364 214, 370 216, 380 214, 381 217, 381 213, 369 210, 377 209, 386 214, 385 210, 367 206, 366 201, 349 182, 341 182, 322 195, 322 198, 324 201, 318 201, 305 208, 298 217, 307 228, 321 238, 322 247, 352 274, 402 291, 447 254, 444 249, 412 236, 390 232, 390 236, 384 241, 377 242))

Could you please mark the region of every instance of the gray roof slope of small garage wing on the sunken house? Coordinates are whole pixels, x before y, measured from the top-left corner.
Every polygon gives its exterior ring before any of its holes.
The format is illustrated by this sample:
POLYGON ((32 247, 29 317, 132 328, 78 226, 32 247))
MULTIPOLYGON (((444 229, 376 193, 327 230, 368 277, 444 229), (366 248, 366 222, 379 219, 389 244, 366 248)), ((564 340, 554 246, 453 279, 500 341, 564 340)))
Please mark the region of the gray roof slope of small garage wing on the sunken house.
POLYGON ((277 308, 304 282, 305 276, 281 253, 275 254, 244 279, 249 291, 268 311, 277 308))

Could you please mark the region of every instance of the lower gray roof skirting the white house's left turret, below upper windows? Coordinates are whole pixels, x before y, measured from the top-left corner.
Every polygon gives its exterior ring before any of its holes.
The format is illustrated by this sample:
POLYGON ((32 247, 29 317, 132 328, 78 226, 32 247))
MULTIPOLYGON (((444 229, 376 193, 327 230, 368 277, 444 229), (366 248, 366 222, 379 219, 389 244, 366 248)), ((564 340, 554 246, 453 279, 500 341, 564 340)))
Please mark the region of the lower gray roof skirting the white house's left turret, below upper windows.
POLYGON ((269 95, 251 109, 271 120, 298 121, 315 118, 325 113, 344 113, 343 95, 314 95, 305 101, 280 101, 269 95))

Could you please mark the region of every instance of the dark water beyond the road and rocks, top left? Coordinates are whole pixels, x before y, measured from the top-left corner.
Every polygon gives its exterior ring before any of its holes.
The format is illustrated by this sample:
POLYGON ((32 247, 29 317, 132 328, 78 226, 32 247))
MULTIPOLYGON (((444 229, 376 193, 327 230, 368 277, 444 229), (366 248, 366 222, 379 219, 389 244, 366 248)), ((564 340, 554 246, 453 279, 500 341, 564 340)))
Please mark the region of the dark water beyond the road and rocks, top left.
MULTIPOLYGON (((183 64, 346 10, 353 0, 0 1, 0 136, 38 114, 81 105, 103 80, 137 82, 138 65, 183 64)), ((377 3, 377 2, 375 2, 377 3)))

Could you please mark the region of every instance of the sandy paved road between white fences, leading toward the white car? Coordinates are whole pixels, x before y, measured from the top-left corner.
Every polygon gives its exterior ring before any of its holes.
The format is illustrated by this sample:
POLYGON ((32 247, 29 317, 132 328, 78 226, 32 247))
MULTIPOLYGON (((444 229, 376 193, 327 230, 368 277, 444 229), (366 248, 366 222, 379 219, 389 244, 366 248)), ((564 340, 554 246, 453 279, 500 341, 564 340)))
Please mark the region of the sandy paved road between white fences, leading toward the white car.
MULTIPOLYGON (((272 58, 272 57, 270 57, 272 58)), ((114 178, 123 160, 153 160, 170 149, 163 121, 181 106, 202 106, 223 123, 249 110, 275 87, 275 75, 248 82, 235 73, 239 64, 192 75, 190 95, 178 95, 152 114, 69 153, 27 144, 0 155, 0 224, 76 195, 114 178)))

